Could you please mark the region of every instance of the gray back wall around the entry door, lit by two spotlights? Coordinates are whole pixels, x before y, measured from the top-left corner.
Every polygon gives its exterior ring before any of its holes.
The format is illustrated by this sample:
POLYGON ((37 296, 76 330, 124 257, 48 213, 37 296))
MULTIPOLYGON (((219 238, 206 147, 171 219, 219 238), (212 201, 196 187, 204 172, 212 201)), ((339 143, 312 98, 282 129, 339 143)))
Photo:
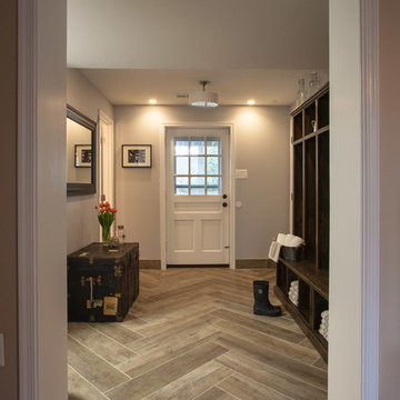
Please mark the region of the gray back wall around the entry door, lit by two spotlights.
POLYGON ((289 109, 286 107, 114 107, 117 222, 140 243, 142 259, 160 259, 160 134, 162 123, 233 123, 237 180, 237 258, 267 258, 269 242, 289 229, 289 109), (122 144, 152 144, 151 169, 121 168, 122 144))

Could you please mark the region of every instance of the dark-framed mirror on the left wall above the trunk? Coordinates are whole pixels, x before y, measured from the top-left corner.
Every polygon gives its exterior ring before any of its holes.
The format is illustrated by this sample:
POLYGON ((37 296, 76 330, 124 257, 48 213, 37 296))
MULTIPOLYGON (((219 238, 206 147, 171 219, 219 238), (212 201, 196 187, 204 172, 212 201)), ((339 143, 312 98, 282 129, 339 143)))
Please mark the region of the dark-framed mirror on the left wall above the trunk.
POLYGON ((96 193, 96 122, 67 104, 67 196, 96 193))

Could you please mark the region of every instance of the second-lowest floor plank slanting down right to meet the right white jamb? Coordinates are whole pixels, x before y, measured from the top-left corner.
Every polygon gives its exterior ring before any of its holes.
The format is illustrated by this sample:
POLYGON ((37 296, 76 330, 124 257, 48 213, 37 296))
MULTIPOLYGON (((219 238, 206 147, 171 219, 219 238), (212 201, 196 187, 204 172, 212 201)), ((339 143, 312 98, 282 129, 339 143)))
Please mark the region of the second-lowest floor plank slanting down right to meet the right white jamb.
POLYGON ((238 354, 251 357, 260 362, 303 380, 317 388, 324 389, 328 384, 327 373, 310 364, 306 364, 294 358, 266 349, 262 346, 250 343, 249 341, 237 339, 229 334, 221 334, 216 341, 227 349, 234 350, 238 354))

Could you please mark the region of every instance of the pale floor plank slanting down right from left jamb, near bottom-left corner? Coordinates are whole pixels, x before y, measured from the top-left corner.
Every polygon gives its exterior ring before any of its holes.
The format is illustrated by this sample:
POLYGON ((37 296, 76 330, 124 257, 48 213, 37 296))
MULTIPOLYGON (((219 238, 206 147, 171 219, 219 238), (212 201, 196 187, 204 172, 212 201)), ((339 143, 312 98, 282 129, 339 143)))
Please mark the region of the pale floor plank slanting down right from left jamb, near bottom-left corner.
POLYGON ((68 339, 68 363, 101 392, 130 379, 72 338, 68 339))

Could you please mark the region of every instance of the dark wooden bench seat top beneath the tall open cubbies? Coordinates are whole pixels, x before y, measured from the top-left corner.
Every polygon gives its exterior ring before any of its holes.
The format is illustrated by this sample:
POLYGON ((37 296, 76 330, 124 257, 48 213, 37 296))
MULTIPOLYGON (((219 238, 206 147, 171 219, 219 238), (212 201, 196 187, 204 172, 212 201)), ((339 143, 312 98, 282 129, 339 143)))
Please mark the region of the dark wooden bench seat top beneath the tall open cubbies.
POLYGON ((279 261, 329 301, 329 272, 327 270, 317 270, 316 261, 311 260, 289 261, 279 259, 279 261))

